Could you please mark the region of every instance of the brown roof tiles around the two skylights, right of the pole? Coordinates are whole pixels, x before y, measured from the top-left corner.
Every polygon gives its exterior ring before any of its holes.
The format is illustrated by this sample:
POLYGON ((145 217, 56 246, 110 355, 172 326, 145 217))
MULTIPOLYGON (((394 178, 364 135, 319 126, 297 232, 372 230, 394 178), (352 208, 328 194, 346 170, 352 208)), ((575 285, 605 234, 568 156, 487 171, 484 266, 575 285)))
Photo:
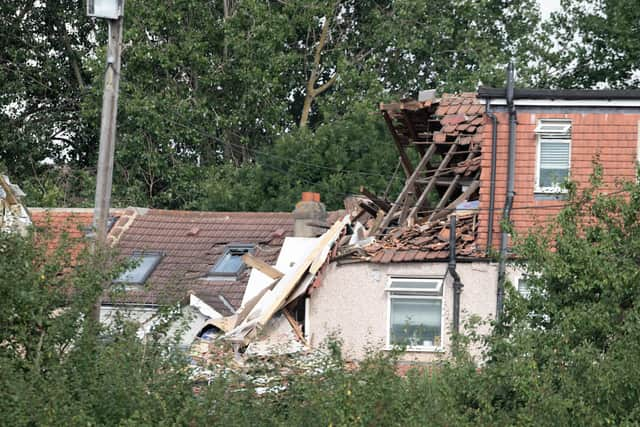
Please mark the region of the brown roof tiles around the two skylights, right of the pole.
POLYGON ((293 216, 289 212, 149 210, 135 219, 117 246, 123 255, 160 251, 164 257, 143 290, 126 292, 117 301, 158 304, 181 300, 192 291, 215 310, 228 314, 220 295, 234 308, 240 307, 250 269, 235 280, 207 279, 225 247, 253 244, 256 257, 275 264, 284 237, 291 235, 293 216))

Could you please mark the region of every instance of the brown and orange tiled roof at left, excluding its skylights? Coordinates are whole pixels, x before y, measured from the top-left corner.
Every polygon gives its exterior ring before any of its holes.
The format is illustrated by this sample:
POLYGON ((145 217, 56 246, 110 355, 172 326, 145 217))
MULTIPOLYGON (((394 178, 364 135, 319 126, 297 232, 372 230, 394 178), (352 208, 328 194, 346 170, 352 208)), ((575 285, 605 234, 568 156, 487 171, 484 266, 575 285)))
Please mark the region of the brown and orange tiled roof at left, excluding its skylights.
MULTIPOLYGON (((76 239, 74 251, 86 244, 82 238, 90 230, 93 209, 32 208, 36 227, 49 230, 53 248, 63 234, 76 239)), ((274 263, 282 242, 293 234, 289 212, 191 212, 144 208, 111 210, 116 220, 108 239, 126 258, 139 252, 160 252, 160 263, 142 286, 108 295, 103 303, 163 304, 184 300, 194 294, 214 310, 229 314, 220 295, 238 308, 250 269, 237 278, 206 278, 207 272, 224 253, 228 244, 255 245, 253 255, 274 263)))

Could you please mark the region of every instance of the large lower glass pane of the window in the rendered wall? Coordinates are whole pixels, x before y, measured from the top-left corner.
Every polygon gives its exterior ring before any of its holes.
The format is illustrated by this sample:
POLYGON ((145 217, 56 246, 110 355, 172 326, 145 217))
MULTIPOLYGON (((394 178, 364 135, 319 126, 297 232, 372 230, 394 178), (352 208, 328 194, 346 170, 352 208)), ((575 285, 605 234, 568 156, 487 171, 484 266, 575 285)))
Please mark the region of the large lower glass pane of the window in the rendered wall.
POLYGON ((391 298, 391 344, 440 346, 442 301, 391 298))

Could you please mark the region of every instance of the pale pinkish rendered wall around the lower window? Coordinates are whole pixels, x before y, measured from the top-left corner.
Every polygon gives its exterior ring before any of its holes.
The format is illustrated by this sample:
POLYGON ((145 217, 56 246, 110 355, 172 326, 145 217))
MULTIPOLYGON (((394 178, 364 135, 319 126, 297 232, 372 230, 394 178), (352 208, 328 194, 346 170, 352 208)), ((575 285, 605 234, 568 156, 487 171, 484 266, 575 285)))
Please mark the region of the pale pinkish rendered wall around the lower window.
MULTIPOLYGON (((309 328, 311 344, 322 344, 332 334, 343 340, 347 358, 362 359, 367 350, 386 348, 388 329, 388 298, 385 292, 390 276, 444 277, 446 262, 348 264, 329 266, 322 285, 309 298, 309 328)), ((495 316, 497 265, 486 262, 458 263, 456 270, 464 285, 460 295, 460 323, 473 314, 490 320, 495 316)), ((447 276, 443 296, 444 352, 408 351, 405 360, 430 362, 447 356, 453 319, 452 279, 447 276)), ((483 325, 480 333, 488 333, 483 325)), ((480 349, 472 349, 480 356, 480 349)))

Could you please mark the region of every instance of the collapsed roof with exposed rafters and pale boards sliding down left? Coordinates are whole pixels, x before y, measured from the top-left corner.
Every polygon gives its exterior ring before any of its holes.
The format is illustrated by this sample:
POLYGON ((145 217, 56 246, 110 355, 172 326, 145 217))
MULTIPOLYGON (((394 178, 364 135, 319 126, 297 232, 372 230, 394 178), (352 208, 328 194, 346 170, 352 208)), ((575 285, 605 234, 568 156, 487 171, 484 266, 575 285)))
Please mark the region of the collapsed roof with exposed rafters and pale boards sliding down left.
POLYGON ((308 256, 300 257, 286 273, 276 270, 262 291, 236 314, 213 322, 226 333, 226 340, 239 347, 249 344, 282 311, 305 343, 302 325, 292 318, 291 310, 297 299, 320 284, 321 269, 332 260, 442 260, 449 257, 452 232, 459 256, 478 254, 475 239, 484 106, 474 94, 463 94, 382 104, 380 110, 406 175, 395 202, 364 187, 361 196, 347 199, 349 215, 310 242, 308 256), (454 211, 458 221, 451 230, 447 216, 454 211))

